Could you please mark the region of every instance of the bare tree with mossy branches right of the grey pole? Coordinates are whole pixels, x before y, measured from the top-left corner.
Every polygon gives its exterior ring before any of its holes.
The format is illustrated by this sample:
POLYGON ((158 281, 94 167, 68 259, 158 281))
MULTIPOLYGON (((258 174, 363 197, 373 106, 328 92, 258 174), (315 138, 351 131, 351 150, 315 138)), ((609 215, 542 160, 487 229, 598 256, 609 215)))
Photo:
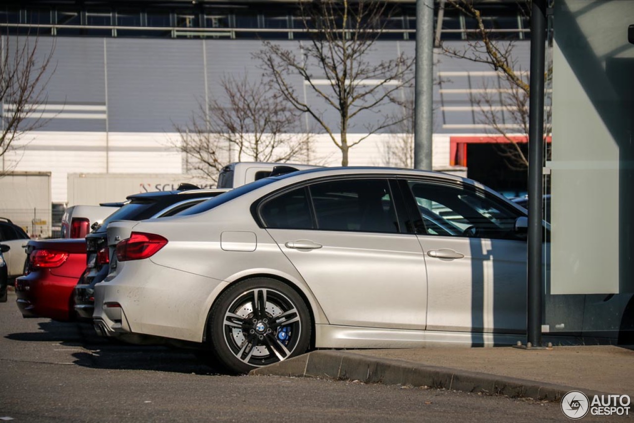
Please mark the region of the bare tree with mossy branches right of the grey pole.
MULTIPOLYGON (((490 127, 501 136, 503 142, 498 152, 503 156, 510 169, 526 169, 528 159, 522 144, 527 140, 529 123, 529 74, 517 63, 513 55, 515 43, 496 37, 486 23, 474 0, 448 0, 448 3, 475 20, 476 29, 469 34, 469 40, 463 48, 446 46, 441 43, 444 54, 477 63, 486 63, 498 72, 498 88, 493 89, 483 82, 479 94, 471 94, 472 104, 477 105, 481 123, 490 127), (515 131, 512 131, 512 128, 515 131), (519 139, 515 134, 522 134, 519 139)), ((519 10, 524 16, 530 16, 530 1, 518 1, 519 10)), ((550 83, 550 70, 547 83, 550 83)), ((548 103, 548 101, 547 101, 548 103)), ((550 107, 545 111, 544 137, 550 135, 550 107)))

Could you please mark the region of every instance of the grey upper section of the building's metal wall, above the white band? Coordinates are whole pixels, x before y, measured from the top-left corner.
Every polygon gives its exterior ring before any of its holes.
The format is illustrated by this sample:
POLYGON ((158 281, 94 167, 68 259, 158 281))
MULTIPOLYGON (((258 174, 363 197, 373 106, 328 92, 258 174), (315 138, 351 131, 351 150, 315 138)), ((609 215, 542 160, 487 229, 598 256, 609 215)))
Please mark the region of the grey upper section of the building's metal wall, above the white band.
MULTIPOLYGON (((107 130, 110 132, 173 131, 174 124, 186 123, 191 113, 197 110, 197 101, 204 100, 205 84, 209 96, 221 96, 218 82, 223 75, 247 73, 257 78, 261 74, 258 62, 252 56, 262 48, 257 40, 56 37, 40 39, 40 51, 48 52, 53 40, 56 70, 47 87, 48 102, 65 107, 42 127, 43 131, 105 131, 104 110, 99 106, 107 106, 107 130), (82 106, 85 110, 81 110, 82 106), (93 113, 94 117, 72 119, 68 115, 71 111, 93 113)), ((280 41, 278 44, 301 54, 299 41, 280 41)), ((377 42, 368 60, 375 63, 390 60, 399 51, 413 56, 414 44, 413 41, 377 42)), ((446 44, 466 47, 459 41, 446 44)), ((529 42, 516 42, 513 51, 517 68, 527 70, 529 42)), ((489 89, 498 88, 498 78, 486 64, 438 53, 435 61, 437 80, 442 81, 434 86, 436 110, 447 105, 470 107, 470 89, 479 89, 485 84, 489 89), (478 73, 482 71, 488 75, 478 73)), ((314 77, 323 75, 315 73, 314 77)), ((297 93, 304 89, 302 82, 299 77, 293 81, 297 93)), ((311 104, 319 101, 309 89, 307 100, 311 104)), ((337 127, 338 116, 332 110, 324 110, 327 123, 337 127)), ((383 113, 394 111, 394 108, 382 110, 383 113)), ((363 133, 363 128, 373 119, 376 117, 370 113, 361 115, 353 122, 351 133, 363 133)), ((444 127, 446 124, 468 126, 478 123, 471 113, 451 116, 450 113, 437 113, 434 120, 436 133, 456 132, 455 127, 444 127)), ((473 129, 465 127, 464 131, 473 129)))

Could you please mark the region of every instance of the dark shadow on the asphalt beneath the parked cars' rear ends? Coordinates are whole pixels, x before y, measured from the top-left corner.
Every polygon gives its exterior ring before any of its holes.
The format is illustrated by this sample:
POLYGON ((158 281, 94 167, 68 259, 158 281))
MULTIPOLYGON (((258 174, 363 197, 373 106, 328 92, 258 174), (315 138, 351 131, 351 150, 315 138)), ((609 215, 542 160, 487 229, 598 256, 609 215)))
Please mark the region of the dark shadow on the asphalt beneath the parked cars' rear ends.
POLYGON ((37 332, 8 334, 6 339, 23 342, 52 342, 84 351, 72 353, 74 364, 115 370, 156 370, 198 375, 229 375, 220 366, 207 363, 193 349, 139 346, 101 337, 90 322, 38 322, 37 332))

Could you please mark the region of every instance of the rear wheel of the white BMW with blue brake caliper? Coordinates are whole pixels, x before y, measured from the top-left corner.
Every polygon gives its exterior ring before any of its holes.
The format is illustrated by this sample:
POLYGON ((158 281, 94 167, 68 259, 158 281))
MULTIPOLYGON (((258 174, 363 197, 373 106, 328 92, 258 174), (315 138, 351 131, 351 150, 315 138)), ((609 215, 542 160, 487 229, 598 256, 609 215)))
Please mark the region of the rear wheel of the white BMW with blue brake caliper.
POLYGON ((217 299, 207 340, 221 365, 247 373, 305 353, 312 327, 308 308, 294 289, 275 279, 253 278, 217 299))

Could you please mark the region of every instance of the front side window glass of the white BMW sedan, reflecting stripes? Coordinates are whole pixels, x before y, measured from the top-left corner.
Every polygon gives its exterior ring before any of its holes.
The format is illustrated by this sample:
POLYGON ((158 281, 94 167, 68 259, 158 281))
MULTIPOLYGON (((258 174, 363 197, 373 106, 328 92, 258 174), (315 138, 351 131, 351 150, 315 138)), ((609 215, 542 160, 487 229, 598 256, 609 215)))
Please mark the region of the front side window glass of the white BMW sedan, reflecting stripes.
POLYGON ((515 220, 522 216, 501 200, 470 186, 408 181, 427 235, 519 239, 515 220))

